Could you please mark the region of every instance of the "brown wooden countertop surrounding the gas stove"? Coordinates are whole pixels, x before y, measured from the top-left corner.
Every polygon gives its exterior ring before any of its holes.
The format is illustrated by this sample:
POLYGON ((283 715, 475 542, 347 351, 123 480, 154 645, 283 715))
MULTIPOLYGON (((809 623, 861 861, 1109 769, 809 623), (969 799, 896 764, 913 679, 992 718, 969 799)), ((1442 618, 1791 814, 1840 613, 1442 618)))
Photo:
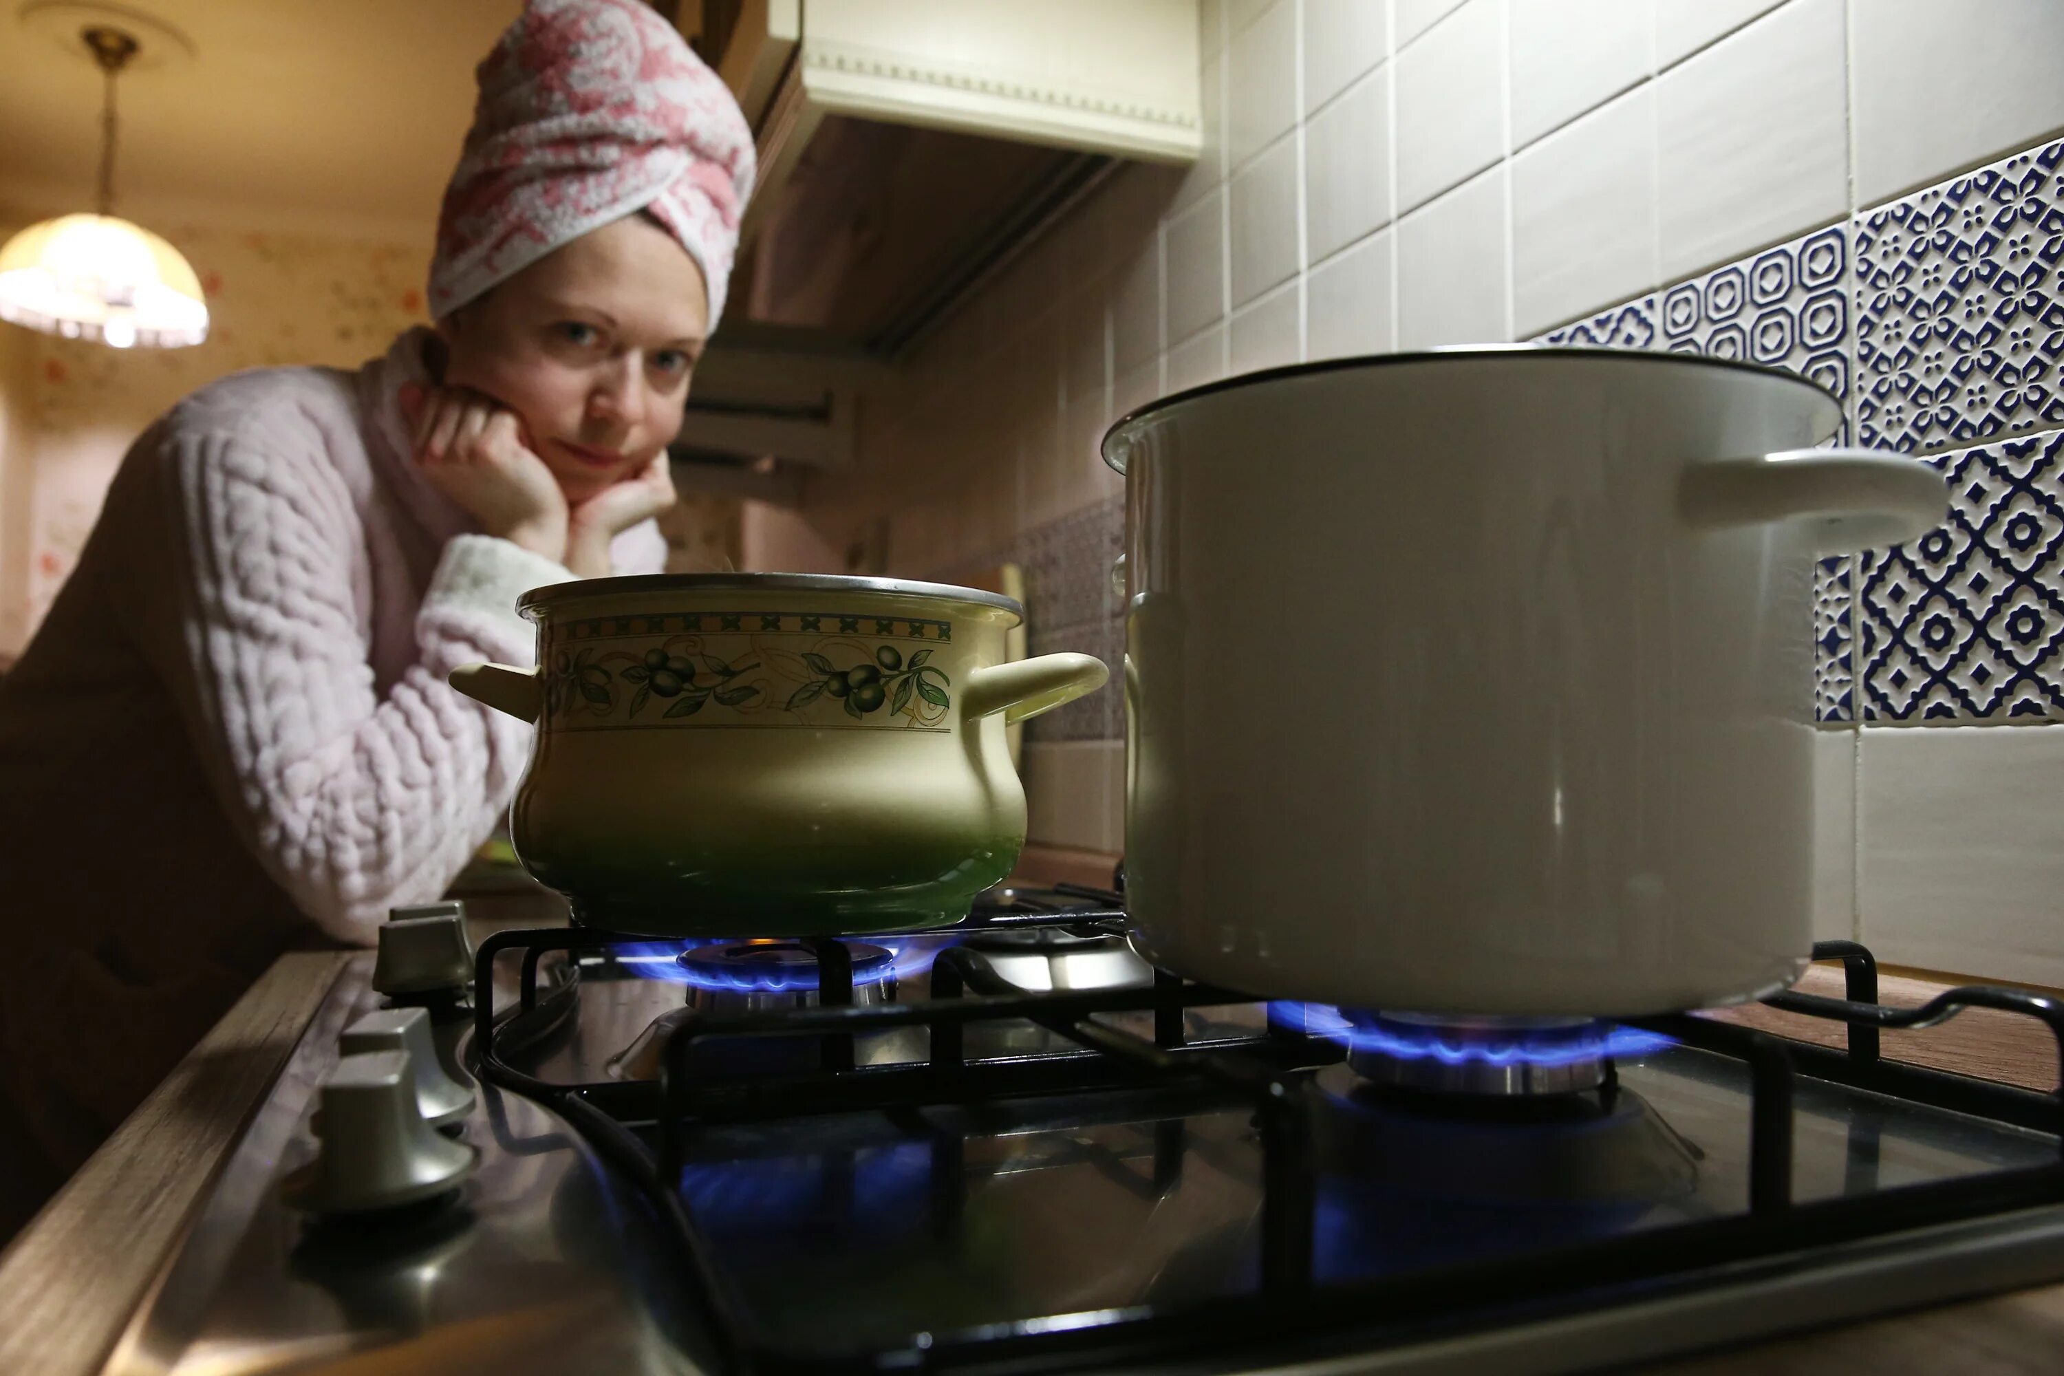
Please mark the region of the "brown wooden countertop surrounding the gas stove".
MULTIPOLYGON (((1090 856, 1057 869, 1090 879, 1090 856)), ((1028 879, 1051 881, 1046 873, 1028 879)), ((1108 873, 1106 879, 1108 883, 1108 873)), ((469 895, 475 932, 545 924, 555 899, 469 895)), ((347 961, 347 951, 283 955, 165 1079, 37 1219, 0 1254, 0 1372, 89 1376, 171 1258, 188 1219, 347 961)), ((1804 992, 1841 996, 1841 970, 1814 965, 1804 992)), ((1880 978, 1880 1003, 1917 1005, 1940 984, 1880 978)), ((1761 1005, 1713 1013, 1808 1042, 1841 1031, 1761 1005)), ((1884 1054, 1965 1075, 2054 1089, 2058 1056, 2041 1027, 1973 1011, 1926 1034, 1884 1034, 1884 1054)), ((2064 1285, 1901 1314, 1827 1333, 1643 1368, 1653 1376, 1827 1376, 1829 1372, 1942 1372, 2056 1376, 2064 1372, 2064 1285)))

